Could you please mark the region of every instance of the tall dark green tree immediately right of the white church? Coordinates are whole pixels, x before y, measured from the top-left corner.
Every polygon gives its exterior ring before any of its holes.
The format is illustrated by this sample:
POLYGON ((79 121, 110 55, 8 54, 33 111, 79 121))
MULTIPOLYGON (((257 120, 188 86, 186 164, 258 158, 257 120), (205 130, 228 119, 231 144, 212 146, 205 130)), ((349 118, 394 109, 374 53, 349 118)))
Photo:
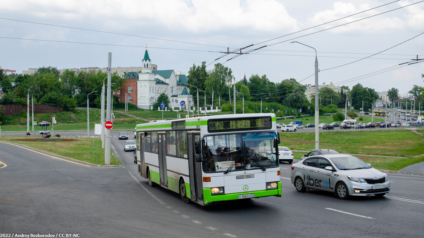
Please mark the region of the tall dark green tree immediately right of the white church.
MULTIPOLYGON (((205 90, 205 81, 206 77, 208 77, 208 74, 206 72, 206 61, 203 61, 201 66, 196 66, 193 64, 193 66, 188 71, 187 75, 187 88, 190 90, 190 93, 194 95, 192 92, 197 93, 198 90, 205 90), (192 86, 190 86, 192 85, 192 86), (195 87, 197 87, 197 89, 195 87)), ((199 91, 199 97, 202 98, 204 96, 204 93, 202 91, 199 91)), ((198 98, 194 98, 194 103, 197 104, 198 98)), ((203 100, 200 100, 203 102, 203 100)))

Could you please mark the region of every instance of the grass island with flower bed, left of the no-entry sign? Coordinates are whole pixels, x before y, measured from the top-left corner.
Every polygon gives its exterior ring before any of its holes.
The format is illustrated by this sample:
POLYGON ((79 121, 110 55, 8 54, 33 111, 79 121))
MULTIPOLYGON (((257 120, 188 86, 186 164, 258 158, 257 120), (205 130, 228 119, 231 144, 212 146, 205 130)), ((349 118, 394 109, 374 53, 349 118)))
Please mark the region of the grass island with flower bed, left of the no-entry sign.
MULTIPOLYGON (((41 137, 31 137, 41 138, 41 137)), ((60 156, 65 156, 71 159, 78 159, 92 164, 105 164, 105 154, 102 149, 102 142, 99 139, 90 138, 75 138, 73 141, 25 141, 16 140, 25 139, 25 137, 0 137, 0 140, 14 142, 21 145, 53 153, 60 156)), ((71 139, 71 138, 66 138, 71 139)), ((72 138, 73 139, 73 138, 72 138)), ((110 164, 119 165, 118 161, 111 150, 110 164)))

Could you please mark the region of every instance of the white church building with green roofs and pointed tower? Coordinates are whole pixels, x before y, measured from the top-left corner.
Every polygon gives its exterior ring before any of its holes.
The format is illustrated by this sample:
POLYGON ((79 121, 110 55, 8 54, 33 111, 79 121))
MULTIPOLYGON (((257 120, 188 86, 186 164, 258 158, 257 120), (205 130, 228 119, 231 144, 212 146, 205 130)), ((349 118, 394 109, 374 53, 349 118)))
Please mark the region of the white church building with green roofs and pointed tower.
MULTIPOLYGON (((147 49, 142 60, 141 73, 132 73, 137 78, 137 107, 142 109, 151 109, 152 104, 157 100, 161 93, 165 93, 170 101, 169 107, 187 106, 188 103, 193 105, 193 96, 187 92, 187 77, 184 74, 176 74, 173 69, 168 70, 152 70, 152 61, 149 57, 147 49), (137 75, 136 75, 137 74, 137 75)), ((133 102, 134 104, 134 102, 133 102)))

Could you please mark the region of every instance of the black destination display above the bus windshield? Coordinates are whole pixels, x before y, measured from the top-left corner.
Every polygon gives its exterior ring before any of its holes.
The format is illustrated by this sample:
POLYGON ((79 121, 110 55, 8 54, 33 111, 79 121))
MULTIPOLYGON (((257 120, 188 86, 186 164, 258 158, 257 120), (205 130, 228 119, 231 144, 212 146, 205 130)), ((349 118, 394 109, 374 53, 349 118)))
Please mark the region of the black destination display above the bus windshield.
POLYGON ((271 117, 210 119, 208 132, 269 130, 272 128, 271 117))

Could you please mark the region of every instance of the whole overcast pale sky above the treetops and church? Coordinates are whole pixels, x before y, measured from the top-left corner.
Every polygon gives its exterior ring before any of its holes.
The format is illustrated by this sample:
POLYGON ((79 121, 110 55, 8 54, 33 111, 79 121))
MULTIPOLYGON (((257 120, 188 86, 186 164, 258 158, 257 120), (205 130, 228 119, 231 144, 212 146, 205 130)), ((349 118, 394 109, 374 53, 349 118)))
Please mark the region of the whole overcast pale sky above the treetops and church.
MULTIPOLYGON (((232 68, 236 80, 244 74, 266 74, 273 82, 287 78, 301 81, 314 73, 315 52, 301 44, 290 44, 299 41, 318 51, 320 84, 333 82, 351 88, 359 82, 377 91, 395 87, 403 94, 414 84, 423 85, 424 63, 398 69, 389 67, 415 59, 416 55, 423 58, 424 34, 371 58, 325 70, 368 57, 424 32, 424 2, 393 1, 0 0, 1 18, 149 37, 0 19, 0 37, 124 45, 0 38, 0 66, 18 73, 42 66, 103 68, 107 66, 107 52, 112 52, 112 67, 141 66, 148 44, 149 56, 159 70, 188 72, 193 63, 212 63, 222 55, 218 52, 226 51, 227 47, 232 50, 257 44, 249 48, 255 49, 274 44, 229 61, 226 60, 230 56, 226 56, 215 63, 232 68), (391 4, 285 36, 386 3, 391 4), (411 3, 417 4, 373 16, 411 3), (373 17, 335 27, 368 16, 373 17), (304 36, 330 27, 335 28, 304 36), (268 41, 280 36, 285 37, 268 41), (262 41, 268 42, 258 44, 262 41), (275 44, 281 41, 285 42, 275 44), (380 71, 386 68, 394 70, 380 71), (383 73, 360 77, 376 71, 383 73)), ((315 79, 312 76, 301 83, 315 84, 315 79)))

